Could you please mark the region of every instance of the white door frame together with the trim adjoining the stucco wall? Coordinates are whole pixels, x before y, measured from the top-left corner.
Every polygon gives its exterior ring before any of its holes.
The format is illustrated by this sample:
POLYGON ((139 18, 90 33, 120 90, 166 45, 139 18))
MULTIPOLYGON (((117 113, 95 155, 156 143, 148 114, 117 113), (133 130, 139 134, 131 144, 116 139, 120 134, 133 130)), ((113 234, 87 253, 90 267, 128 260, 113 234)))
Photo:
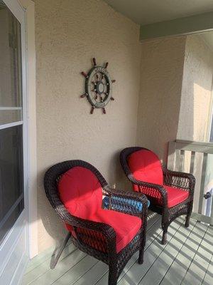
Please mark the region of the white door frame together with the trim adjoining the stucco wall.
MULTIPOLYGON (((32 1, 4 0, 21 23, 24 209, 0 246, 0 283, 17 285, 27 260, 38 254, 35 118, 35 11, 32 1), (25 5, 25 6, 24 6, 25 5), (26 6, 27 5, 27 6, 26 6)), ((1 125, 2 128, 2 125, 1 125)))

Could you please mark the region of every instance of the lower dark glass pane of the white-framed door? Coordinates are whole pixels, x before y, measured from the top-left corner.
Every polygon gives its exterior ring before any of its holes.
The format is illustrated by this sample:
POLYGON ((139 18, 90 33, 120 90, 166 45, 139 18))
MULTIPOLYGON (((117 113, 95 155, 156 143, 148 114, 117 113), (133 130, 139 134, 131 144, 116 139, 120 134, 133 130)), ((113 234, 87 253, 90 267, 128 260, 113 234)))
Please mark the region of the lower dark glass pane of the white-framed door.
POLYGON ((0 130, 0 240, 22 210, 22 125, 18 125, 0 130))

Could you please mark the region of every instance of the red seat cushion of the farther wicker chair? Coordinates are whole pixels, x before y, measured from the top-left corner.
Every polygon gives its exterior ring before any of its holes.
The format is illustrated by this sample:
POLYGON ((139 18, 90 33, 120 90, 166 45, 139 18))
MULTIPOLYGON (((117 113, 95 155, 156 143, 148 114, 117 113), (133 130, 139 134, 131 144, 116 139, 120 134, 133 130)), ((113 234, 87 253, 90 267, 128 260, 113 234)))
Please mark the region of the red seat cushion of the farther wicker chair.
POLYGON ((189 197, 189 191, 182 190, 180 188, 170 187, 163 185, 168 195, 168 207, 174 207, 177 204, 182 203, 189 197))

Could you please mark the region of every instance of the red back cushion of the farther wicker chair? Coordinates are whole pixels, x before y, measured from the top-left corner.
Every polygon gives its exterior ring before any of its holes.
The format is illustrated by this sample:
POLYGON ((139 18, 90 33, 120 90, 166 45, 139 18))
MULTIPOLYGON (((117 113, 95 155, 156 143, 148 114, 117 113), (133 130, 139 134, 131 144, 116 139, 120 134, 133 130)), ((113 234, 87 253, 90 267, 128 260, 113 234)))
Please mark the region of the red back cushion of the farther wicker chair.
POLYGON ((128 164, 136 180, 163 185, 160 160, 151 150, 138 150, 128 157, 128 164))

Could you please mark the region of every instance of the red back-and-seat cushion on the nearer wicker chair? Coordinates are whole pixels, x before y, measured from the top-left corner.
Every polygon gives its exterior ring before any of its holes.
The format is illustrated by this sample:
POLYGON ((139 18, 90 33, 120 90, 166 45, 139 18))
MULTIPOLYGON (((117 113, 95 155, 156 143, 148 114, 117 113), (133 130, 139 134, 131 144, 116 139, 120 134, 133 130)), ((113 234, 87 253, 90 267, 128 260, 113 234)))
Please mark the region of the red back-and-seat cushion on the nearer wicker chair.
MULTIPOLYGON (((141 228, 141 219, 102 209, 102 187, 97 177, 84 167, 73 167, 58 184, 60 199, 70 214, 93 222, 103 222, 116 232, 116 252, 126 247, 141 228)), ((67 229, 73 232, 67 224, 67 229)))

